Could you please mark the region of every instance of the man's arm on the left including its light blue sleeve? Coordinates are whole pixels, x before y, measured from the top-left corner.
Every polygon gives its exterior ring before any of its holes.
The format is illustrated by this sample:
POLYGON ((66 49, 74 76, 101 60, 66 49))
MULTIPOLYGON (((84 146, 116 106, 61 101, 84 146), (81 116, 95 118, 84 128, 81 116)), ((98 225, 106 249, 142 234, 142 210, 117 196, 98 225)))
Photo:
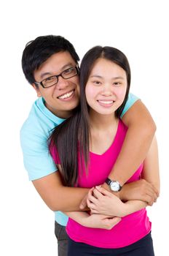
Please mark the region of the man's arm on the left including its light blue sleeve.
POLYGON ((78 211, 80 201, 88 189, 63 187, 60 172, 48 151, 47 136, 37 128, 38 124, 29 119, 20 131, 24 165, 29 179, 52 211, 78 211))

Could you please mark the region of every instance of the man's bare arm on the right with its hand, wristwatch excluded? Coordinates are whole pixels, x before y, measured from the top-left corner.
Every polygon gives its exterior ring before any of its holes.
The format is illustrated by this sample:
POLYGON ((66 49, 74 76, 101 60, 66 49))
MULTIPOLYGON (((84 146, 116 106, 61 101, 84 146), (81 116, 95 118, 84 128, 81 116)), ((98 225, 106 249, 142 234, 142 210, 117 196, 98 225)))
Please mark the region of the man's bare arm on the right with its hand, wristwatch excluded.
MULTIPOLYGON (((146 158, 149 147, 152 143, 156 125, 146 106, 137 100, 131 108, 127 110, 122 121, 128 127, 122 150, 119 153, 117 161, 109 174, 109 178, 119 181, 123 185, 133 176, 133 173, 146 158)), ((108 185, 104 183, 103 188, 110 191, 108 185)), ((125 184, 120 192, 114 192, 121 200, 145 200, 152 206, 157 200, 157 189, 149 184, 148 181, 135 181, 131 184, 125 184)), ((80 208, 87 205, 87 195, 83 198, 80 208)))

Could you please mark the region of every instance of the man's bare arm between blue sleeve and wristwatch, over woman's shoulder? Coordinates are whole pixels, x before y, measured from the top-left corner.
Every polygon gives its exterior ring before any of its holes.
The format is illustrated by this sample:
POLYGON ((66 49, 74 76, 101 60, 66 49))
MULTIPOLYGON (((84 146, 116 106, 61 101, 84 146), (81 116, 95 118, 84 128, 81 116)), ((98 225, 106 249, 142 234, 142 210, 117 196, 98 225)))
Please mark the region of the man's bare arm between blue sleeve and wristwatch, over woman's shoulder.
MULTIPOLYGON (((128 130, 119 157, 109 174, 111 180, 119 181, 121 185, 133 176, 144 161, 156 130, 152 116, 141 100, 127 110, 122 121, 128 130)), ((103 187, 108 189, 107 184, 103 187)))

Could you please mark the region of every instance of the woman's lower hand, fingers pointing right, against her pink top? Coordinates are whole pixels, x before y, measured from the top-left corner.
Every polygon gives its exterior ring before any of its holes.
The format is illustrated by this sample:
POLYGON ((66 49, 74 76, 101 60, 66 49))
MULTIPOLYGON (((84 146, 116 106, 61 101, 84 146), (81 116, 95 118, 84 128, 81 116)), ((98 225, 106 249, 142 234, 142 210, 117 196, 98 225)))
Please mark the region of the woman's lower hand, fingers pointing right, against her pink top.
POLYGON ((109 217, 102 214, 91 214, 83 220, 84 227, 103 228, 111 230, 115 225, 120 222, 119 217, 109 217))

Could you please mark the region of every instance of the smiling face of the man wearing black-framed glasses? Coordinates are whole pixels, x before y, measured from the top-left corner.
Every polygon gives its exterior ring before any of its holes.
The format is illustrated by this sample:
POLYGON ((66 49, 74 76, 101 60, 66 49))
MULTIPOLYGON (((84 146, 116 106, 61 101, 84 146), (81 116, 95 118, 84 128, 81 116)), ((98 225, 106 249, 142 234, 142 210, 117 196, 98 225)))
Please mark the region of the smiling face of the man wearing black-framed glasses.
MULTIPOLYGON (((34 78, 36 82, 41 82, 52 75, 59 75, 70 67, 76 67, 76 63, 68 51, 55 53, 34 72, 34 78)), ((40 85, 37 88, 35 84, 32 86, 37 96, 44 98, 46 107, 60 118, 70 116, 71 110, 79 103, 78 75, 68 79, 59 76, 58 83, 49 88, 40 85)))

